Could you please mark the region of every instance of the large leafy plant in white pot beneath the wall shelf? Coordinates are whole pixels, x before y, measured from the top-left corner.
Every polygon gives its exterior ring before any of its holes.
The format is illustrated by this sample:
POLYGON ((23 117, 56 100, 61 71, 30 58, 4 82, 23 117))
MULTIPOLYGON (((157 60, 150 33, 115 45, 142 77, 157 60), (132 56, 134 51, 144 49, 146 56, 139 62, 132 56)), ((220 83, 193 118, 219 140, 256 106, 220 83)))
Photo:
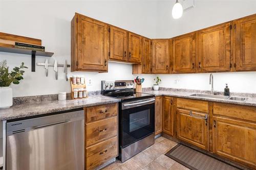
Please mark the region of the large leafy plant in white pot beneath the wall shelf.
POLYGON ((24 70, 21 68, 28 68, 24 66, 24 63, 19 67, 14 67, 9 72, 6 60, 0 62, 0 109, 8 108, 12 106, 12 88, 9 87, 11 83, 19 84, 19 81, 23 79, 24 70))

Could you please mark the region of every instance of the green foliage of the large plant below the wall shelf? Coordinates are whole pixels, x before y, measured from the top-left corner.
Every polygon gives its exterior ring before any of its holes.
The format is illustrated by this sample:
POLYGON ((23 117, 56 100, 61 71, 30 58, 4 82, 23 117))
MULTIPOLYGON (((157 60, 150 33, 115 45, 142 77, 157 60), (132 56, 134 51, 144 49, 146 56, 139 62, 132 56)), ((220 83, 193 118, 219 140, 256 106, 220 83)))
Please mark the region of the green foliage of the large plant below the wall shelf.
POLYGON ((20 80, 23 80, 24 70, 22 68, 28 68, 22 62, 19 67, 14 67, 11 72, 9 72, 9 67, 7 66, 7 61, 4 60, 0 62, 0 87, 9 87, 11 83, 19 84, 20 80))

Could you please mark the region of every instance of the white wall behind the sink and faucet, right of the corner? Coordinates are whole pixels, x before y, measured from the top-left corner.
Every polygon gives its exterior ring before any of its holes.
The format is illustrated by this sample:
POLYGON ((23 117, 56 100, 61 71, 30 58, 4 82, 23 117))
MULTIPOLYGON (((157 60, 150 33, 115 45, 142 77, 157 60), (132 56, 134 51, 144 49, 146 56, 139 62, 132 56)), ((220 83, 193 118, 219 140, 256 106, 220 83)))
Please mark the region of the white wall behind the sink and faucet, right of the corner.
MULTIPOLYGON (((222 22, 256 13, 255 0, 195 0, 196 7, 184 12, 179 19, 172 18, 175 1, 160 0, 157 6, 156 38, 170 38, 196 31, 222 22)), ((141 75, 146 81, 143 87, 151 87, 153 75, 141 75)), ((209 90, 209 74, 158 75, 160 86, 209 90), (179 81, 178 81, 179 80, 179 81)), ((223 91, 228 83, 231 92, 256 93, 256 72, 214 74, 214 88, 223 91)))

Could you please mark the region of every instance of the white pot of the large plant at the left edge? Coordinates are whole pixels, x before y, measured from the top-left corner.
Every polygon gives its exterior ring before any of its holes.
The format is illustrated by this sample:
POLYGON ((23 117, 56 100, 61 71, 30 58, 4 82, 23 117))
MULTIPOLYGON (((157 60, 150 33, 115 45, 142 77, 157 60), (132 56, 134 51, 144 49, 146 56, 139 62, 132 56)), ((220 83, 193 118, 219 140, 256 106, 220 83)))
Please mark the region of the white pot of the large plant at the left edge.
POLYGON ((12 88, 0 87, 0 109, 12 106, 12 88))

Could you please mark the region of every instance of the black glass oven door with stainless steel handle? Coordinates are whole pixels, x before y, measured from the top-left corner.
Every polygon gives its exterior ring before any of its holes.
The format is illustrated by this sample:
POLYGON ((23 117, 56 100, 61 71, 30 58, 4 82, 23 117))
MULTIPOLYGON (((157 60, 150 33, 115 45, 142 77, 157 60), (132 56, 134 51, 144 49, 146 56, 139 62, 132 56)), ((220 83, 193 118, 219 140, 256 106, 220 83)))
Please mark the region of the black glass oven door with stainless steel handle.
POLYGON ((155 132, 155 98, 123 102, 120 114, 121 148, 155 132))

